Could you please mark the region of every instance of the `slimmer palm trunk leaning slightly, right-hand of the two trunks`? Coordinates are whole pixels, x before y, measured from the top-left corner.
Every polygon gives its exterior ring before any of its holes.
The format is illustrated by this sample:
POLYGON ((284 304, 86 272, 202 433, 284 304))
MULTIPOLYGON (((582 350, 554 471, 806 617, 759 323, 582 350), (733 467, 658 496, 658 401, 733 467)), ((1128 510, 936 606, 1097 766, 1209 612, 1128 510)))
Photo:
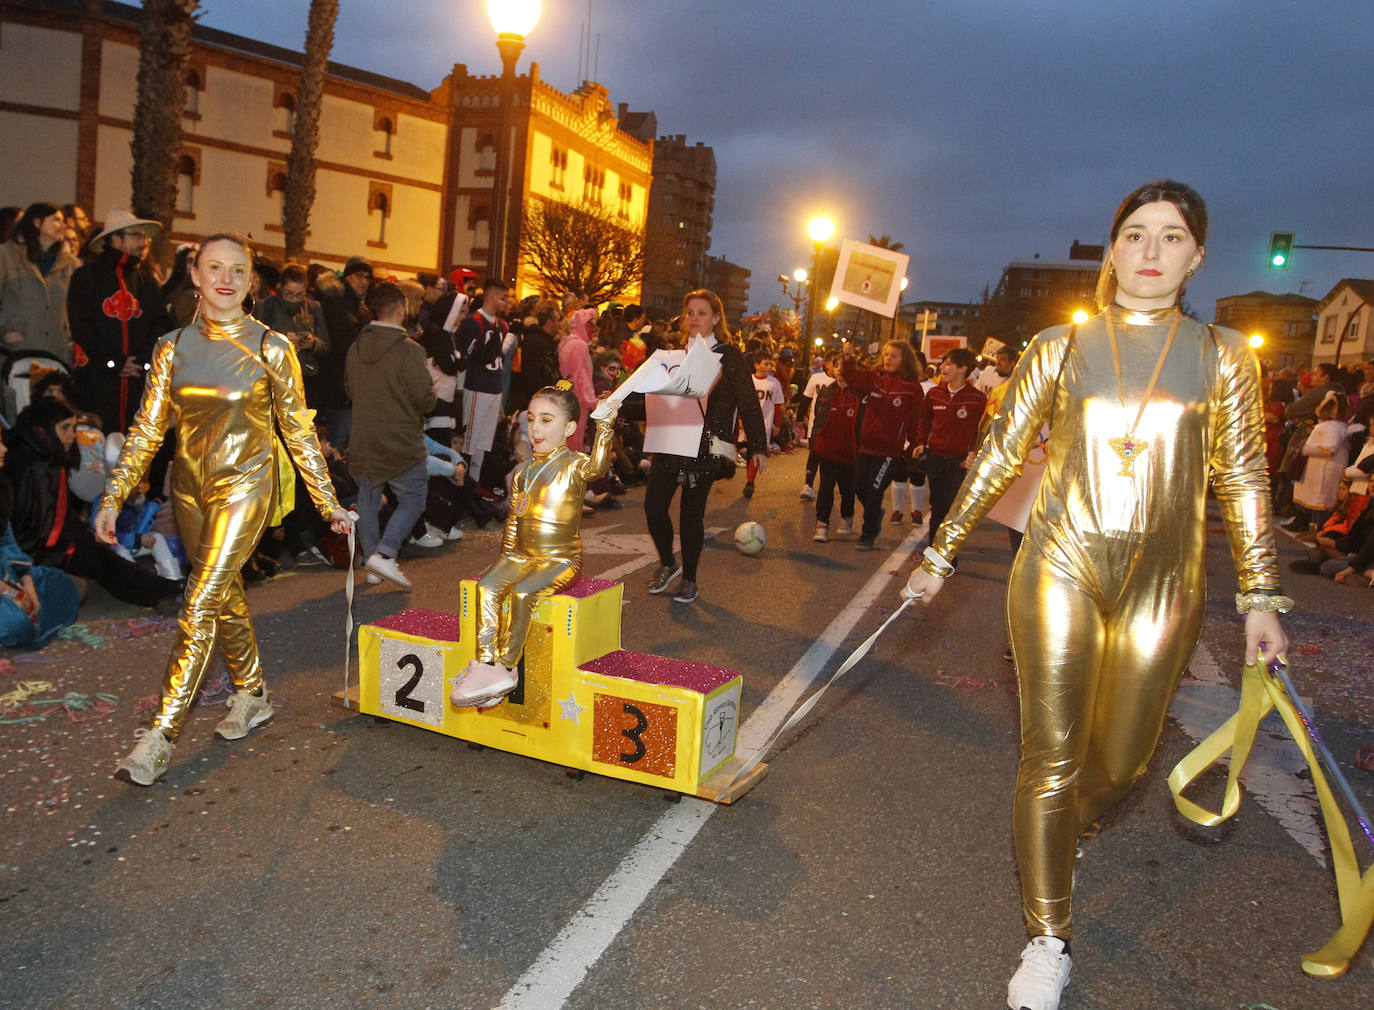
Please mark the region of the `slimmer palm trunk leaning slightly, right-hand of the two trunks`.
POLYGON ((311 209, 315 206, 315 151, 320 143, 320 107, 324 103, 324 80, 328 76, 338 15, 338 0, 311 0, 305 63, 301 67, 301 88, 295 95, 291 153, 286 157, 286 192, 282 194, 287 260, 305 258, 305 232, 311 227, 311 209))

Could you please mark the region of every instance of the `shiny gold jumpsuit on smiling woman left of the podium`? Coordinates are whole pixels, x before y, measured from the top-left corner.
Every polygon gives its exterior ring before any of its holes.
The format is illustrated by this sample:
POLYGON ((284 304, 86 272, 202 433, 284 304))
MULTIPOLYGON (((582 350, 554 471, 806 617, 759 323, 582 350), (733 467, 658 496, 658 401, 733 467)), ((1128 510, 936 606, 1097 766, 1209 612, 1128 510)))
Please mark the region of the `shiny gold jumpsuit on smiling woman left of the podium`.
POLYGON ((328 518, 338 502, 287 339, 246 317, 201 319, 174 330, 153 350, 143 404, 100 499, 102 508, 118 513, 176 425, 172 504, 191 574, 154 720, 173 741, 216 642, 234 686, 262 688, 239 569, 262 537, 276 499, 273 415, 311 497, 328 518))

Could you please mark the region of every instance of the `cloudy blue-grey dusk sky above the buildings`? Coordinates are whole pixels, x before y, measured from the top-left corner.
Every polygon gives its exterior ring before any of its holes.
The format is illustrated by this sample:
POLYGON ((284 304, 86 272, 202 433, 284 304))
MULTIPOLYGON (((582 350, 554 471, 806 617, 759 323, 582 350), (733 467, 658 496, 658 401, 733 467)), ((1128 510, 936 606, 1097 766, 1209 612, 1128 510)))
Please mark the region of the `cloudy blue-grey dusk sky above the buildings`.
MULTIPOLYGON (((205 0, 213 27, 301 48, 306 0, 205 0)), ((521 70, 572 91, 585 0, 544 0, 521 70)), ((1256 289, 1323 297, 1374 254, 1374 15, 1367 0, 594 0, 596 78, 660 133, 716 148, 712 253, 753 271, 754 308, 838 236, 892 235, 910 298, 977 300, 1011 260, 1105 239, 1136 184, 1208 202, 1190 302, 1256 289)), ((594 43, 595 44, 595 43, 594 43)), ((334 59, 437 87, 497 73, 484 0, 342 0, 334 59)))

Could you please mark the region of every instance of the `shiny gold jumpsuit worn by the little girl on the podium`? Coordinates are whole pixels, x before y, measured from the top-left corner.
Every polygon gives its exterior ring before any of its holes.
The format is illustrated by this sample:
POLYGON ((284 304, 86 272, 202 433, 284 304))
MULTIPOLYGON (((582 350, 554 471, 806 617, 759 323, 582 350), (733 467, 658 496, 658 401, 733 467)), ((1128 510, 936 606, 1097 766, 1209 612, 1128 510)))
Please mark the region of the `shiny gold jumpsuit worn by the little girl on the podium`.
POLYGON ((477 580, 478 662, 514 669, 539 601, 581 570, 583 497, 587 482, 610 470, 614 423, 614 418, 596 422, 589 456, 559 445, 536 452, 511 478, 502 557, 477 580))

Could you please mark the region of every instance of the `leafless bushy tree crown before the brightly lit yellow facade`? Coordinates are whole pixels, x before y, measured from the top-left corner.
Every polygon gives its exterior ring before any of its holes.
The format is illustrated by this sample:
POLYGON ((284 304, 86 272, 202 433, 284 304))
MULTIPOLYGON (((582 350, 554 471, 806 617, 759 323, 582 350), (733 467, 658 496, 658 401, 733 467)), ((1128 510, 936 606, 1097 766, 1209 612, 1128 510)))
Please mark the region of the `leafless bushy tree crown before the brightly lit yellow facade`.
POLYGON ((640 283, 644 232, 596 203, 530 201, 519 254, 550 293, 578 291, 603 302, 640 283))

